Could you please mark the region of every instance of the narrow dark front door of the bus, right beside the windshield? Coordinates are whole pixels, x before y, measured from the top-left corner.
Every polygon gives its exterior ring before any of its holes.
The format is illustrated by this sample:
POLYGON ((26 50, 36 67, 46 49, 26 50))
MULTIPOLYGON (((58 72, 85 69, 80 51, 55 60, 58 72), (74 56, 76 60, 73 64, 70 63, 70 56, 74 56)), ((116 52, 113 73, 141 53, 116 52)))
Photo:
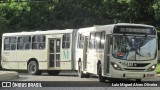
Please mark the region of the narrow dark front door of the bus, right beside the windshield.
POLYGON ((105 57, 104 57, 104 74, 109 75, 109 68, 110 68, 110 44, 112 37, 111 35, 106 35, 106 42, 105 42, 105 57))

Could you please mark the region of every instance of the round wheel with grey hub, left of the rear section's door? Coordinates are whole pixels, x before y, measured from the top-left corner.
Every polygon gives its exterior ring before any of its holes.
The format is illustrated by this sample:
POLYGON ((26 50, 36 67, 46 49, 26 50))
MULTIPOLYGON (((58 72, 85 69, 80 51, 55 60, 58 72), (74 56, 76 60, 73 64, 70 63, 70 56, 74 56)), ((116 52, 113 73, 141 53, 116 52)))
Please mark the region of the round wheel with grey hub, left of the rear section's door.
POLYGON ((31 75, 38 75, 41 74, 40 71, 38 70, 38 64, 35 61, 31 61, 28 64, 28 73, 31 75))

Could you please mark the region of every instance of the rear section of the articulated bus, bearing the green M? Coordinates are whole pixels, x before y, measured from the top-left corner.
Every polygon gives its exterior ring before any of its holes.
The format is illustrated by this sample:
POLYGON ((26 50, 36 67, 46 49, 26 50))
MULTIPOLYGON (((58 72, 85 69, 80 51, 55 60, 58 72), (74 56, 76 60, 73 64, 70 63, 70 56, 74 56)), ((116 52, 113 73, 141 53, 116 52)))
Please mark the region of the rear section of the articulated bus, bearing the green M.
POLYGON ((75 68, 74 29, 4 33, 1 64, 9 70, 28 70, 29 74, 58 75, 75 68))

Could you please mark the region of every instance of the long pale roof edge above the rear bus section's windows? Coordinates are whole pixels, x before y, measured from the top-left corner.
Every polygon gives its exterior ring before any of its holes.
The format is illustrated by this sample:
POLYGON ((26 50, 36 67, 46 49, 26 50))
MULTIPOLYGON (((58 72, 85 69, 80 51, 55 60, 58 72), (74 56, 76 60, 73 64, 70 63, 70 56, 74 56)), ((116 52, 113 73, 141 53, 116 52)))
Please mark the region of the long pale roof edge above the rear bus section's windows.
POLYGON ((74 29, 4 33, 3 36, 65 34, 65 33, 72 33, 73 30, 74 30, 74 29))

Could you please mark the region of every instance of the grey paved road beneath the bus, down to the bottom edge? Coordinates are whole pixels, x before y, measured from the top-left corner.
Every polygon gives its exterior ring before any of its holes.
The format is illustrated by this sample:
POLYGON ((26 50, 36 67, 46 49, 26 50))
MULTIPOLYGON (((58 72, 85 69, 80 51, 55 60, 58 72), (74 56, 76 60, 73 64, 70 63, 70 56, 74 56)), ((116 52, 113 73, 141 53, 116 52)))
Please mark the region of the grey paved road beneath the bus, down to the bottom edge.
MULTIPOLYGON (((41 83, 43 88, 11 88, 11 90, 23 89, 23 90, 160 90, 160 87, 117 87, 113 86, 109 81, 105 83, 100 83, 98 78, 79 78, 77 73, 61 73, 58 76, 49 76, 47 73, 43 73, 42 75, 34 76, 28 75, 27 73, 19 73, 19 79, 12 80, 12 82, 33 82, 33 83, 41 83), (44 81, 48 81, 46 83, 44 81)), ((121 81, 121 80, 120 80, 121 81)), ((156 79, 143 80, 143 83, 148 83, 148 81, 160 81, 160 77, 156 79)), ((122 84, 130 84, 136 83, 133 80, 127 81, 127 83, 122 84)), ((153 84, 152 82, 149 84, 153 84)), ((160 82, 155 83, 160 86, 160 82)), ((142 84, 140 84, 142 85, 142 84)), ((9 90, 9 88, 0 88, 0 90, 9 90)))

